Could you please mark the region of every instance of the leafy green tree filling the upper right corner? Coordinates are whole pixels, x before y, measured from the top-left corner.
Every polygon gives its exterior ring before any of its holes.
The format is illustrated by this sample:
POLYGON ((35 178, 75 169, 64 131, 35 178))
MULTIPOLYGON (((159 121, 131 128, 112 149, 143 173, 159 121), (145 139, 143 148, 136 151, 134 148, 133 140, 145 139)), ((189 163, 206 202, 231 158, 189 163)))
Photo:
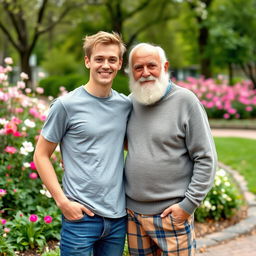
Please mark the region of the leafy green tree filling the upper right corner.
POLYGON ((213 60, 233 69, 239 67, 256 88, 256 1, 216 1, 211 24, 213 60))

